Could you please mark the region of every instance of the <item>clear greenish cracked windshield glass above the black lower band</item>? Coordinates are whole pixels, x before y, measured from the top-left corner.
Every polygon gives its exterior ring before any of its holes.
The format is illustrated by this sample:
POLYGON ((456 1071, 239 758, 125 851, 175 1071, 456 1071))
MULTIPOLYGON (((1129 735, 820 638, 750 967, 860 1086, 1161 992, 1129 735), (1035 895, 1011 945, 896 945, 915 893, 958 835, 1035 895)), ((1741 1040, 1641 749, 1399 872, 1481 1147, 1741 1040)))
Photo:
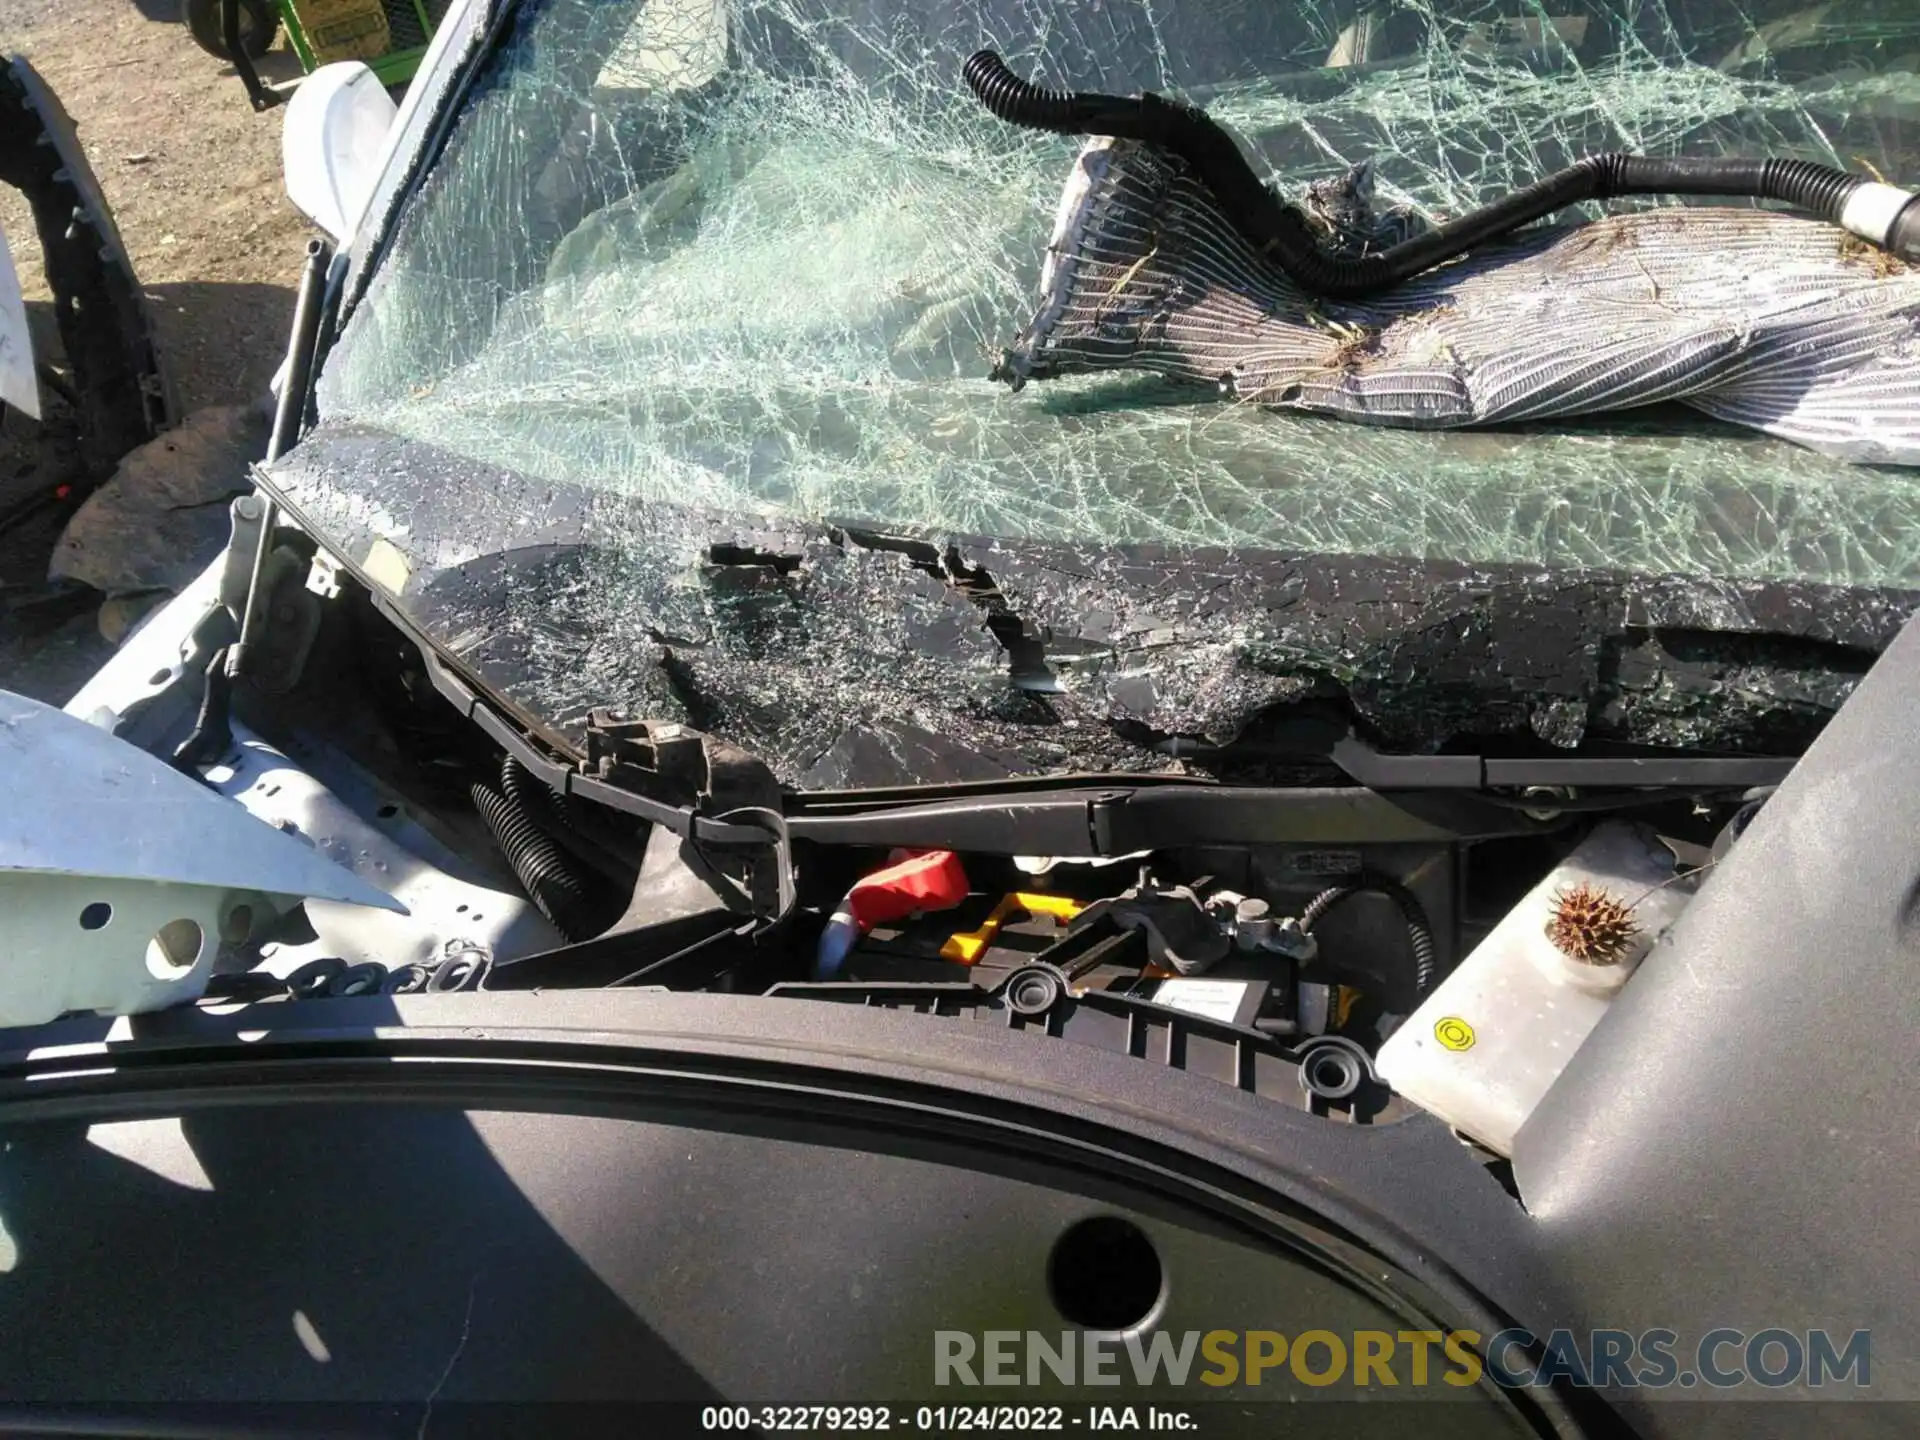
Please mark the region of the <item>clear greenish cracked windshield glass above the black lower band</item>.
POLYGON ((1046 84, 1194 100, 1290 196, 1371 159, 1377 209, 1427 221, 1603 150, 1920 179, 1910 0, 530 0, 326 363, 323 420, 620 497, 609 543, 666 501, 1920 578, 1920 474, 1680 407, 1417 432, 1123 369, 995 384, 1079 140, 981 109, 960 81, 981 46, 1046 84))

